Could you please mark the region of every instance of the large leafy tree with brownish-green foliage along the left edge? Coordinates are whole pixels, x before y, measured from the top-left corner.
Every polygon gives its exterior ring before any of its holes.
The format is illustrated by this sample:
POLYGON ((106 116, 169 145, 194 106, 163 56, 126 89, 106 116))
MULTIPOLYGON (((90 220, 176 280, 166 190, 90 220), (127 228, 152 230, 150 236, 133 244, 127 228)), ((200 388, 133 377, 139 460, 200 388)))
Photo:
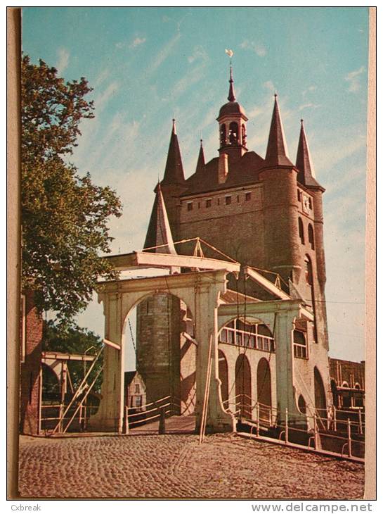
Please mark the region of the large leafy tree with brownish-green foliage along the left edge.
POLYGON ((93 118, 89 92, 84 77, 65 82, 44 61, 22 57, 22 287, 64 323, 86 307, 100 275, 115 277, 98 255, 110 251, 108 219, 121 215, 121 203, 67 163, 81 120, 93 118))

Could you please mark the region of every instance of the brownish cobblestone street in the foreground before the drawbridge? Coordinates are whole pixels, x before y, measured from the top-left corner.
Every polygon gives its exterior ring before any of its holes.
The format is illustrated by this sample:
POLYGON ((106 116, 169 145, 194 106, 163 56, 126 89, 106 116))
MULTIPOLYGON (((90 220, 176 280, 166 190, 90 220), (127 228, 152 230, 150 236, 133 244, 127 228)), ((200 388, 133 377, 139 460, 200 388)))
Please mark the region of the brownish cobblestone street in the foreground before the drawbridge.
POLYGON ((21 496, 361 499, 363 466, 235 434, 20 439, 21 496))

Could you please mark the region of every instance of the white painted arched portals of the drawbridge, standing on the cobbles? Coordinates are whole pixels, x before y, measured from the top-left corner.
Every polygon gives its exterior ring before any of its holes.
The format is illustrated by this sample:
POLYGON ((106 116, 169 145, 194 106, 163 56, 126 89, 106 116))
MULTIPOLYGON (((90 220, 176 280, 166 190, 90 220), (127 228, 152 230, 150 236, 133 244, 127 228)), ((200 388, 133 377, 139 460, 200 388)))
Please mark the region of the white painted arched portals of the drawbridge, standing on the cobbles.
MULTIPOLYGON (((239 265, 238 265, 239 270, 239 265)), ((209 339, 212 337, 212 374, 207 410, 207 432, 235 432, 234 415, 223 407, 218 368, 218 334, 226 322, 246 315, 273 327, 277 363, 278 409, 289 410, 290 420, 304 422, 294 399, 294 358, 292 330, 297 318, 313 319, 310 311, 297 299, 280 299, 245 304, 226 304, 227 269, 188 272, 161 277, 114 280, 98 287, 98 300, 103 303, 105 339, 117 347, 105 346, 102 399, 98 412, 89 423, 92 430, 122 433, 124 422, 124 345, 122 334, 126 317, 143 299, 167 293, 183 300, 193 315, 196 352, 196 429, 200 429, 202 404, 207 377, 209 339), (118 349, 119 347, 119 349, 118 349)))

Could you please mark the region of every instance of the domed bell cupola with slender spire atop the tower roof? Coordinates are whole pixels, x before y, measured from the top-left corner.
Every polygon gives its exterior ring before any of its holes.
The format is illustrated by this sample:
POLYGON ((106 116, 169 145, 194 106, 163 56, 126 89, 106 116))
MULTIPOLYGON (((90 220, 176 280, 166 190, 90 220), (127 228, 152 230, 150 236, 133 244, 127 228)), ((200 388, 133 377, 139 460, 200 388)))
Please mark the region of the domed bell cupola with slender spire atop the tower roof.
POLYGON ((246 122, 248 120, 242 106, 235 101, 233 68, 230 66, 228 103, 219 110, 216 120, 219 123, 219 152, 237 153, 242 156, 246 147, 246 122))

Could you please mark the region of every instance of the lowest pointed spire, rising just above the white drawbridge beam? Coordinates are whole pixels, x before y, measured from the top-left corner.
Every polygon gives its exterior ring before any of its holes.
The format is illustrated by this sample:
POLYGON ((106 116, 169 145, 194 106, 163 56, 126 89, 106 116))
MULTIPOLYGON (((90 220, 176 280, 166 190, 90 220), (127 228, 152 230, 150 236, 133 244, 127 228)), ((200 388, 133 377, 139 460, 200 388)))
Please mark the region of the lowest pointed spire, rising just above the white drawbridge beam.
POLYGON ((176 249, 174 248, 173 237, 171 236, 169 218, 167 217, 167 209, 165 207, 164 196, 162 196, 160 182, 157 184, 155 193, 155 201, 153 203, 152 214, 150 215, 144 249, 160 246, 160 248, 148 251, 175 254, 176 249))

